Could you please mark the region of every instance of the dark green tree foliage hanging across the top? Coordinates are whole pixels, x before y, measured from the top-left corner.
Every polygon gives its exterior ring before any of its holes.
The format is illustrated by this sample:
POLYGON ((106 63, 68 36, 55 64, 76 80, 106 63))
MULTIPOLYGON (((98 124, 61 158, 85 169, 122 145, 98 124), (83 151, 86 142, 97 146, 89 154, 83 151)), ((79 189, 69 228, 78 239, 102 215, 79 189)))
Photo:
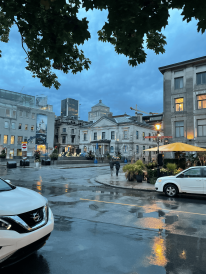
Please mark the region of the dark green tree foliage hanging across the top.
POLYGON ((108 10, 99 40, 114 45, 133 67, 146 60, 144 39, 156 54, 165 52, 166 37, 161 31, 168 24, 170 9, 182 9, 183 20, 195 18, 197 30, 204 33, 206 29, 206 1, 200 0, 0 0, 0 41, 9 41, 9 31, 16 24, 27 54, 26 69, 43 86, 59 89, 53 69, 77 73, 91 64, 78 48, 90 38, 89 22, 78 18, 82 7, 108 10))

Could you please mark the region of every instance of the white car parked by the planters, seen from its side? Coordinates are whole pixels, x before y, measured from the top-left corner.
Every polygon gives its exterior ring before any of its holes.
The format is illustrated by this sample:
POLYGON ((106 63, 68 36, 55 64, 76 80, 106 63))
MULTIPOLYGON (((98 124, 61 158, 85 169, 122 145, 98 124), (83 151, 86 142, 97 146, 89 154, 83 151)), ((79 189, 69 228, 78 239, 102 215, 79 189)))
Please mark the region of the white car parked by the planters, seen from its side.
POLYGON ((178 193, 206 194, 206 166, 190 167, 175 176, 160 177, 155 189, 169 197, 178 193))

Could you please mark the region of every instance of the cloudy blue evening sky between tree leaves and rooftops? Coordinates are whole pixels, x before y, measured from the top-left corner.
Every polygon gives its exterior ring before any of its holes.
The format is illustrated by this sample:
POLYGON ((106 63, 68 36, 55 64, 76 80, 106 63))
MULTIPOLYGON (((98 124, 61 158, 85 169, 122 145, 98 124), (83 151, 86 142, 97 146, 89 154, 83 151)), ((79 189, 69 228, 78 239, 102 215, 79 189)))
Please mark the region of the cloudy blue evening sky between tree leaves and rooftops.
POLYGON ((97 31, 107 21, 106 11, 81 10, 79 17, 87 17, 91 39, 81 48, 92 62, 90 69, 76 75, 55 70, 61 83, 60 89, 45 88, 40 80, 32 78, 25 69, 26 54, 21 47, 20 34, 14 26, 9 43, 0 42, 0 89, 29 95, 44 94, 48 104, 60 115, 61 100, 67 97, 79 100, 80 118, 87 120, 91 107, 102 99, 113 115, 125 112, 134 115, 130 107, 137 104, 146 112, 163 111, 163 76, 158 67, 205 56, 206 34, 197 32, 197 21, 182 22, 180 11, 170 12, 169 25, 163 30, 167 37, 166 52, 156 55, 146 50, 147 60, 133 68, 128 58, 118 55, 109 43, 98 41, 97 31))

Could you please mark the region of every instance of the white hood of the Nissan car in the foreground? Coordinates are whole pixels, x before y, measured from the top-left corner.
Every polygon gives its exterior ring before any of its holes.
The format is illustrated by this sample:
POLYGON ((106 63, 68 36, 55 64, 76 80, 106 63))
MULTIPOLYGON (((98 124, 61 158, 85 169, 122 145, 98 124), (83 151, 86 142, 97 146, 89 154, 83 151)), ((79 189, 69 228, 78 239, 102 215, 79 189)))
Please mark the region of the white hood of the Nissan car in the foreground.
POLYGON ((45 204, 46 200, 43 196, 23 187, 0 192, 0 216, 21 214, 45 204))

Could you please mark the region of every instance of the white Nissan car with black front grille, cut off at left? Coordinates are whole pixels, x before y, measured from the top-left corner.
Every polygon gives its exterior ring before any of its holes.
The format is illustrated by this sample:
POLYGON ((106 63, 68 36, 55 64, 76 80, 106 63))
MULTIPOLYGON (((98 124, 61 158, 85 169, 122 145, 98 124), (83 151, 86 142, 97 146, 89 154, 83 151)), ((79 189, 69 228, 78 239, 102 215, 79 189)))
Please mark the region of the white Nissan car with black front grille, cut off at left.
POLYGON ((41 248, 53 228, 46 198, 0 179, 0 268, 41 248))

